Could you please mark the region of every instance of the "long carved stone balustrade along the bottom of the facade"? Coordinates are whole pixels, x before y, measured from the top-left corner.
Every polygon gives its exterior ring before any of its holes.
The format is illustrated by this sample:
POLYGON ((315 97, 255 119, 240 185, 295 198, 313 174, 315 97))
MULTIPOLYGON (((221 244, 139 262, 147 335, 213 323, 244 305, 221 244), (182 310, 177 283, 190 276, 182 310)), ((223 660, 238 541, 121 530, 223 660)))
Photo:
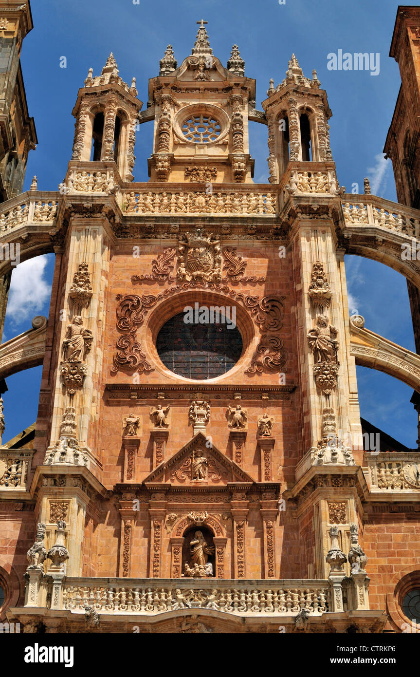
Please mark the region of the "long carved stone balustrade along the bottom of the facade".
POLYGON ((213 609, 233 615, 296 616, 328 611, 327 580, 235 581, 215 579, 66 578, 63 609, 85 613, 147 614, 179 609, 213 609))

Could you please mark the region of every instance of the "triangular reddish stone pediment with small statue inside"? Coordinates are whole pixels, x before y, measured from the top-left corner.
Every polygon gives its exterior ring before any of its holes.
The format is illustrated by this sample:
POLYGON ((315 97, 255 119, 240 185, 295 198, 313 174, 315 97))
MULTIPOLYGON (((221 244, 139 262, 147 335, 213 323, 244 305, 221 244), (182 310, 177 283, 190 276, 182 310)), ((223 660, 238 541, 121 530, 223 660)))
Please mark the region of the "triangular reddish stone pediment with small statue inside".
POLYGON ((171 458, 155 468, 145 478, 144 483, 148 482, 207 487, 230 482, 255 483, 255 480, 216 447, 208 447, 208 437, 197 433, 171 458))

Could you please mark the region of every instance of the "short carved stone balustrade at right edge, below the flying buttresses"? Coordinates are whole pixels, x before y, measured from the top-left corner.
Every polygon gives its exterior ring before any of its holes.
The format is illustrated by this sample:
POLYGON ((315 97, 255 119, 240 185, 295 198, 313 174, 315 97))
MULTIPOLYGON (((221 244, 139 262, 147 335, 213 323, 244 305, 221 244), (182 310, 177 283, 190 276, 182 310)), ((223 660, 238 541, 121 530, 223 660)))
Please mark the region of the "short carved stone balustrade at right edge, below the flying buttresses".
POLYGON ((420 492, 420 452, 365 452, 365 464, 372 494, 420 492))

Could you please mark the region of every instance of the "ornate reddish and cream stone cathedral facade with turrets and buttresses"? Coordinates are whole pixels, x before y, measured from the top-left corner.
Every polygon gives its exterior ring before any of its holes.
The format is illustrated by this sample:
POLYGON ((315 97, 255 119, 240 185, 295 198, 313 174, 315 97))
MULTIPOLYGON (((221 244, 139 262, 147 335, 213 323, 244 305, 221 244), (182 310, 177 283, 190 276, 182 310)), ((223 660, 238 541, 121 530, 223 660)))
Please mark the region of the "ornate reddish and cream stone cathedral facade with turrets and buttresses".
POLYGON ((33 444, 0 447, 0 620, 402 632, 419 618, 420 454, 369 446, 356 364, 420 393, 420 358, 349 318, 344 255, 417 290, 400 253, 419 205, 340 187, 315 70, 292 55, 258 110, 237 45, 223 66, 197 23, 145 108, 112 54, 89 70, 60 190, 34 179, 0 205, 3 244, 55 253, 49 318, 0 347, 1 378, 43 364, 33 444), (249 123, 267 129, 264 184, 249 123))

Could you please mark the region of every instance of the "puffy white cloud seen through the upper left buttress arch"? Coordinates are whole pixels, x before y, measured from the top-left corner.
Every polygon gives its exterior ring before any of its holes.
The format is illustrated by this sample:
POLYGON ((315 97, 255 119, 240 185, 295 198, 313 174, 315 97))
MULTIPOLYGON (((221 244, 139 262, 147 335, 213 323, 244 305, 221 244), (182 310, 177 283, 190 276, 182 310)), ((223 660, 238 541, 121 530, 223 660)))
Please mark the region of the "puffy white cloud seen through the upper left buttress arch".
MULTIPOLYGON (((45 279, 48 256, 43 255, 20 263, 11 275, 6 320, 18 326, 45 307, 51 286, 45 279)), ((3 339, 4 341, 4 339, 3 339)))

